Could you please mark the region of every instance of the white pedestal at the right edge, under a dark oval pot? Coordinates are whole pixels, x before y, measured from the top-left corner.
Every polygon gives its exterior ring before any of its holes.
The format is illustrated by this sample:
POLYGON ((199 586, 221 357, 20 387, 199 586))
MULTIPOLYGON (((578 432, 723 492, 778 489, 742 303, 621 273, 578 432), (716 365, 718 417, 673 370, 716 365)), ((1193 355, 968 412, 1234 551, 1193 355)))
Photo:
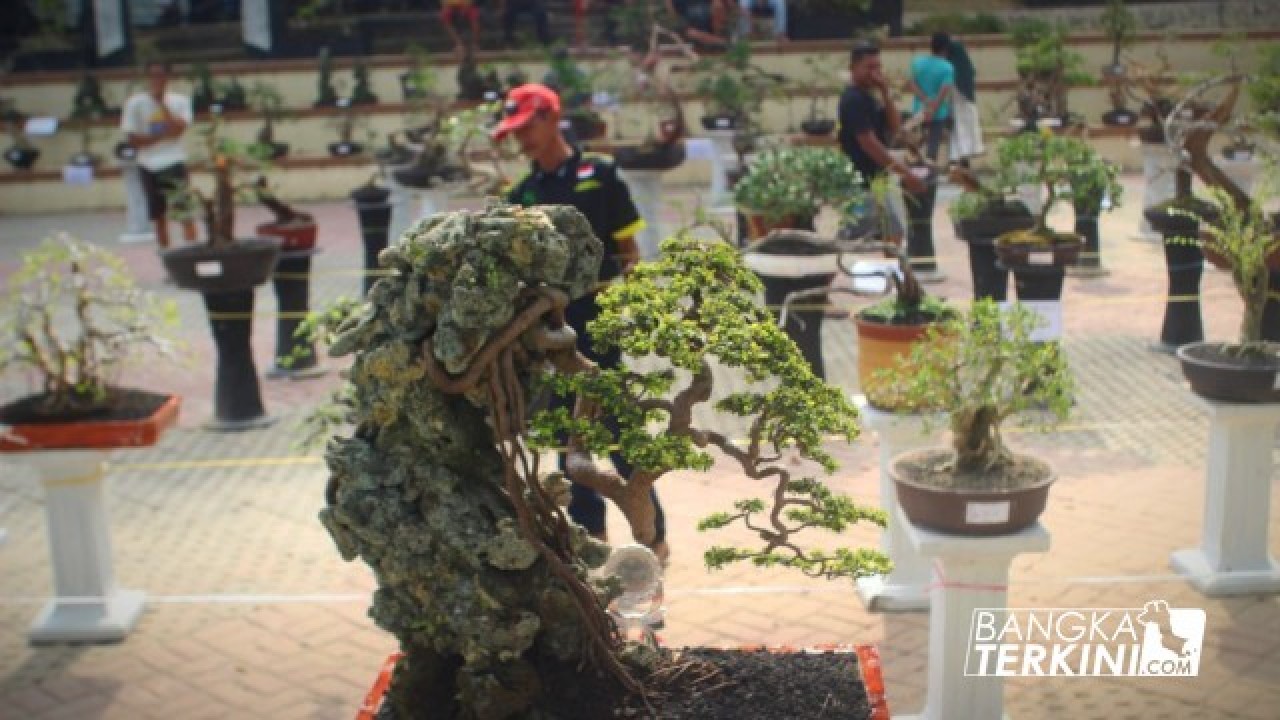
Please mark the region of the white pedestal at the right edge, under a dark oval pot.
POLYGON ((1170 565, 1210 596, 1280 592, 1280 565, 1267 550, 1280 404, 1197 400, 1208 409, 1204 528, 1199 547, 1179 550, 1170 565))

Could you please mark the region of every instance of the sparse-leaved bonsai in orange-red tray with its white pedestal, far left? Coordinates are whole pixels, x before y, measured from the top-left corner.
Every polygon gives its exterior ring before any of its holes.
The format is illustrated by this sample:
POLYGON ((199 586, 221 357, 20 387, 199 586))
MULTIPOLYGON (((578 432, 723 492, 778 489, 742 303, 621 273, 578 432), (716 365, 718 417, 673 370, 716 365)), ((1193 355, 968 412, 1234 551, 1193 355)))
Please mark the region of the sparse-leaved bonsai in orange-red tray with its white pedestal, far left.
POLYGON ((138 290, 122 258, 65 234, 24 252, 8 282, 0 374, 33 392, 0 406, 0 454, 40 477, 54 579, 28 638, 118 642, 145 596, 115 583, 105 459, 155 445, 178 419, 178 396, 122 384, 127 364, 173 359, 178 311, 138 290))

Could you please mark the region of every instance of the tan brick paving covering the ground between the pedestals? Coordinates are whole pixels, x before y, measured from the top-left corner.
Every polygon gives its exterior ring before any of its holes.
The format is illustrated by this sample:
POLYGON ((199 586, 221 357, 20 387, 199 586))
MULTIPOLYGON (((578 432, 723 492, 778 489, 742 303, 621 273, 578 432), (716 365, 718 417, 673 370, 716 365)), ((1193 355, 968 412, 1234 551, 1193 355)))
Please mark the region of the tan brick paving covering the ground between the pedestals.
MULTIPOLYGON (((1126 197, 1140 197, 1126 178, 1126 197)), ((671 199, 664 222, 680 222, 671 199)), ((945 204, 940 204, 945 205, 945 204)), ((355 292, 358 240, 353 213, 311 208, 321 222, 314 302, 355 292)), ((246 211, 242 222, 257 213, 246 211)), ((1018 559, 1012 606, 1139 606, 1165 598, 1204 607, 1204 657, 1196 679, 1020 679, 1007 685, 1014 717, 1270 717, 1280 716, 1280 598, 1210 600, 1167 569, 1169 553, 1197 543, 1203 505, 1204 415, 1184 389, 1172 359, 1147 350, 1160 325, 1160 247, 1130 240, 1137 209, 1103 219, 1106 278, 1069 279, 1065 347, 1079 379, 1078 411, 1051 436, 1014 442, 1050 460, 1060 474, 1044 524, 1046 555, 1018 559)), ((296 423, 334 373, 301 382, 264 380, 280 421, 265 430, 220 436, 210 416, 212 369, 198 300, 164 284, 150 246, 116 246, 114 215, 0 219, 0 274, 44 232, 64 228, 116 247, 143 284, 180 302, 192 346, 182 368, 140 368, 155 387, 184 395, 180 425, 155 448, 115 457, 108 492, 115 562, 125 587, 151 602, 123 643, 33 648, 26 629, 50 593, 42 500, 31 475, 0 460, 0 717, 9 719, 349 719, 393 641, 365 618, 372 582, 344 564, 315 521, 324 469, 294 447, 296 423)), ((950 225, 938 217, 938 254, 948 279, 932 290, 968 295, 968 272, 950 225)), ((1206 327, 1230 337, 1238 304, 1228 278, 1204 283, 1206 327)), ((270 361, 274 299, 260 291, 255 343, 270 361)), ((841 304, 850 302, 840 300, 841 304)), ((846 322, 828 320, 831 379, 855 391, 856 347, 846 322)), ((721 374, 721 392, 735 378, 721 374)), ((19 388, 3 388, 13 395, 19 388)), ((730 429, 733 429, 732 427, 730 429)), ((876 438, 837 447, 838 489, 877 501, 876 438)), ((846 583, 733 568, 708 574, 701 550, 733 534, 703 537, 694 524, 733 498, 758 492, 726 464, 707 475, 663 482, 675 557, 667 573, 673 644, 872 642, 882 650, 891 707, 923 705, 927 618, 870 614, 846 583)), ((1272 493, 1272 505, 1280 505, 1272 493)), ((1280 555, 1280 509, 1272 509, 1272 553, 1280 555)), ((613 527, 621 528, 617 518, 613 527)), ((846 544, 876 542, 858 529, 846 544)))

